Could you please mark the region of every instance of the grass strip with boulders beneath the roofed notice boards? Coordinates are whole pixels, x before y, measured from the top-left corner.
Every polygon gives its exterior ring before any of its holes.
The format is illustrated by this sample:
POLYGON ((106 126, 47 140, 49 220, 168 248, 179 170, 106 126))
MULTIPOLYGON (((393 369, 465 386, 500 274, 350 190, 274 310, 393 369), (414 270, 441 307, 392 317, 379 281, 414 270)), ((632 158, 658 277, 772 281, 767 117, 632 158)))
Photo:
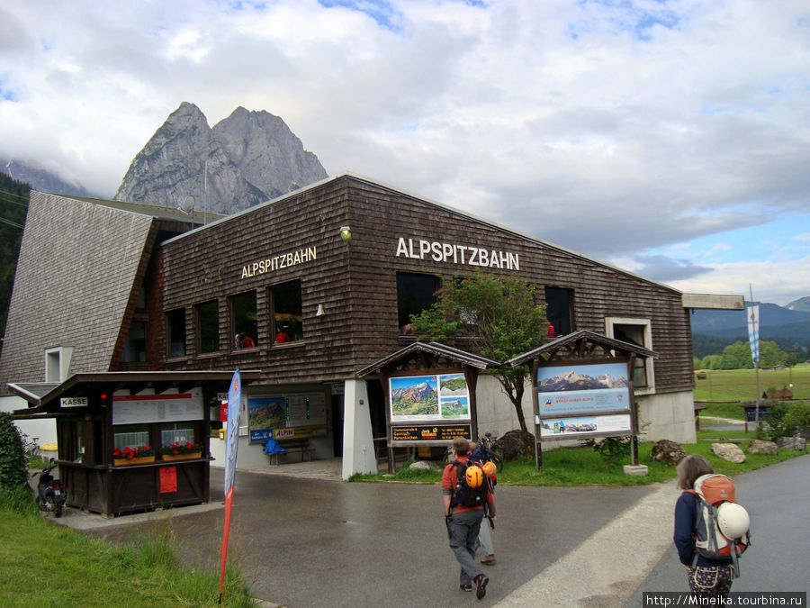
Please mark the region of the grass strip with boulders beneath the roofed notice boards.
MULTIPOLYGON (((753 424, 749 431, 699 431, 698 443, 684 444, 683 449, 688 454, 700 454, 707 458, 716 473, 736 475, 755 468, 795 458, 806 452, 796 450, 779 450, 776 456, 764 454, 745 454, 745 462, 736 465, 717 458, 712 454, 712 443, 723 443, 726 440, 739 441, 743 450, 748 440, 755 439, 753 424)), ((629 465, 630 458, 617 466, 609 466, 590 448, 560 448, 543 452, 543 467, 538 471, 534 460, 520 458, 507 462, 503 471, 498 474, 499 485, 648 485, 664 482, 676 476, 675 467, 667 467, 661 462, 650 460, 652 443, 640 443, 638 446, 639 464, 646 465, 649 473, 646 476, 626 475, 622 465, 629 465)), ((402 467, 393 476, 388 475, 356 475, 349 481, 356 482, 406 482, 436 484, 441 481, 441 470, 411 471, 402 467)))

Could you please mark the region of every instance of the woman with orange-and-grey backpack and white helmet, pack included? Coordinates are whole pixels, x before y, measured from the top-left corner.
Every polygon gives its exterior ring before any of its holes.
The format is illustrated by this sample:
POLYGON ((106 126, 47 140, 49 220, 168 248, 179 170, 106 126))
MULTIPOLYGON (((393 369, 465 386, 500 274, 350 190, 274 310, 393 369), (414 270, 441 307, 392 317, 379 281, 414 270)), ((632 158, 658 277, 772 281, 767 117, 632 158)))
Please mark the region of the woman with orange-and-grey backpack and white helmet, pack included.
POLYGON ((750 545, 749 518, 736 503, 734 484, 715 475, 706 458, 692 454, 678 465, 673 540, 686 566, 689 591, 707 598, 725 598, 739 576, 737 559, 750 545))

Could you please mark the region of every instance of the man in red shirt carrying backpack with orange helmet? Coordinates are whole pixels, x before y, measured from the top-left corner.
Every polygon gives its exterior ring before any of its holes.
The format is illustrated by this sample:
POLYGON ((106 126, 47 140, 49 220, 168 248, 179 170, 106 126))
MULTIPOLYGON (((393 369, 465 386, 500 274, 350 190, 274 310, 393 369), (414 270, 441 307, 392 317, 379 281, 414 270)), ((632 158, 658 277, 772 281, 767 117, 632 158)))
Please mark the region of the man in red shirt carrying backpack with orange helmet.
POLYGON ((467 452, 469 441, 456 437, 452 444, 453 461, 442 473, 442 503, 450 549, 461 567, 459 587, 473 591, 479 600, 487 593, 490 579, 475 563, 475 541, 481 530, 483 507, 487 505, 490 518, 495 521, 495 497, 490 485, 484 481, 481 467, 475 465, 467 452))

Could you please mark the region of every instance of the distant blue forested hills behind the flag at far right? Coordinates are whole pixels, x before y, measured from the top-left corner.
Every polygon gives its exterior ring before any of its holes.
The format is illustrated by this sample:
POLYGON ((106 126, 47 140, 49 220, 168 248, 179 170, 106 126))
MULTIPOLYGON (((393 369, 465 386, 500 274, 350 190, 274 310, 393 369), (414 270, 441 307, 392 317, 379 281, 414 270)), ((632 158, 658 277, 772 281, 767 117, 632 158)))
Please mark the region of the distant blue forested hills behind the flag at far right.
MULTIPOLYGON (((801 298, 788 306, 810 302, 801 298)), ((749 306, 751 303, 746 302, 749 306)), ((786 352, 810 347, 810 311, 777 304, 760 304, 760 340, 773 341, 786 352)), ((698 357, 720 353, 736 341, 748 341, 745 311, 698 310, 691 316, 692 347, 698 357)))

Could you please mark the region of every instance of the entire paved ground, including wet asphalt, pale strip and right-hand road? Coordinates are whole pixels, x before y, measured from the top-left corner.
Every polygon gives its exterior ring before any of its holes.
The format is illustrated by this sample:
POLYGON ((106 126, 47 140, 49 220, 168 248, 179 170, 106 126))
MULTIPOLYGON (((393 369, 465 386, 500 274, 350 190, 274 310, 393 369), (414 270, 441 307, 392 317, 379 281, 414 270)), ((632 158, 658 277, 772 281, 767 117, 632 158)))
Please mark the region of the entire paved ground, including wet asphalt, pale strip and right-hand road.
MULTIPOLYGON (((643 591, 686 590, 671 549, 674 482, 499 486, 498 564, 486 568, 491 584, 479 603, 458 590, 437 485, 346 484, 318 475, 319 461, 302 470, 310 466, 315 478, 270 475, 275 467, 237 474, 229 558, 270 603, 635 606, 643 591)), ((734 590, 806 586, 808 468, 810 455, 736 477, 757 544, 734 590)), ((211 496, 221 493, 222 469, 212 468, 211 496)), ((68 513, 64 523, 113 541, 168 526, 189 563, 218 569, 220 502, 112 521, 68 513)))

